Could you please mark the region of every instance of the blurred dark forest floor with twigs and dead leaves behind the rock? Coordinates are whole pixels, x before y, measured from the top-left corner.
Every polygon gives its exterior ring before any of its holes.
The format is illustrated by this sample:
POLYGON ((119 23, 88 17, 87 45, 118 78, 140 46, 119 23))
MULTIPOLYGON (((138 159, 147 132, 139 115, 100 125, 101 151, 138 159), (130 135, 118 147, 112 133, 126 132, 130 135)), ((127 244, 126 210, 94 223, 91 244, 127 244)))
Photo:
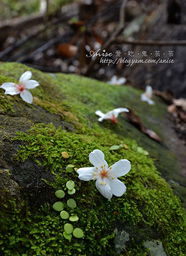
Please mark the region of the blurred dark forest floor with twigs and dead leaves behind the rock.
POLYGON ((186 145, 185 0, 3 0, 0 14, 0 61, 106 82, 116 75, 141 89, 150 84, 186 145), (86 56, 97 49, 113 54, 110 65, 86 56), (127 66, 119 58, 174 62, 127 66))

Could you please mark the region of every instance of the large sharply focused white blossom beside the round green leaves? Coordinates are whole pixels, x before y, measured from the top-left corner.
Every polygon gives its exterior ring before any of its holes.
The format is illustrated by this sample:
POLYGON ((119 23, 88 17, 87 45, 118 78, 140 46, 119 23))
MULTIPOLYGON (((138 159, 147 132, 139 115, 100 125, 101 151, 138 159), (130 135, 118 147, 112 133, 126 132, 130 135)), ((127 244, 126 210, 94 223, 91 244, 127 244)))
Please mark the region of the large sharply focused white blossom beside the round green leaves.
POLYGON ((109 201, 113 195, 121 197, 126 191, 126 186, 117 178, 129 172, 131 168, 130 162, 122 159, 109 167, 104 160, 104 154, 100 150, 91 152, 89 161, 94 167, 77 169, 78 178, 84 181, 96 180, 96 188, 109 201))

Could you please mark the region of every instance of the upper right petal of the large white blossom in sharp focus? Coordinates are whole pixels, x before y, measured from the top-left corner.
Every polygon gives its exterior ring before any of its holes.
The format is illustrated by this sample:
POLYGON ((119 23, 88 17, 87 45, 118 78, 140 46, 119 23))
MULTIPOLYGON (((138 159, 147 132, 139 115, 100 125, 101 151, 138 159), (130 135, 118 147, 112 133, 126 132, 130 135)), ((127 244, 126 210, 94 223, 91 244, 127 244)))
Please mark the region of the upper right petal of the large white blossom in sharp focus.
POLYGON ((131 168, 130 162, 126 159, 119 160, 110 167, 109 176, 115 175, 114 177, 121 177, 129 172, 131 168))

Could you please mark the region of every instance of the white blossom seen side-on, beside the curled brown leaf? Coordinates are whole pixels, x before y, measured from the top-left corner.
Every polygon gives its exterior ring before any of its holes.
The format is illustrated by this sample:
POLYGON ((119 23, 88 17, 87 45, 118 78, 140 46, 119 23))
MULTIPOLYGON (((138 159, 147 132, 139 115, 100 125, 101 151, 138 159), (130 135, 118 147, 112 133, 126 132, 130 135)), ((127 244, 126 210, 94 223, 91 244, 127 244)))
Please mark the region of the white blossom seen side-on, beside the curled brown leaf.
POLYGON ((98 119, 99 122, 102 122, 103 119, 110 119, 114 123, 118 123, 116 118, 118 117, 119 113, 122 113, 122 112, 129 112, 129 110, 126 108, 118 108, 118 109, 111 110, 106 114, 103 114, 100 110, 96 110, 95 114, 99 116, 99 119, 98 119))

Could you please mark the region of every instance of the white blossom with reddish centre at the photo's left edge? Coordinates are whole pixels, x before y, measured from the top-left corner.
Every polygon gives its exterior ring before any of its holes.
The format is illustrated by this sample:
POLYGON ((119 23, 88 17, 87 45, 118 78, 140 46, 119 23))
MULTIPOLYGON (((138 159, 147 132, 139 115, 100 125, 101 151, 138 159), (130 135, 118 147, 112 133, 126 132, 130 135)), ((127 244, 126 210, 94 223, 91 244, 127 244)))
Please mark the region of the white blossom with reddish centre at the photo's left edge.
POLYGON ((0 86, 0 88, 3 88, 5 90, 5 94, 20 94, 21 98, 25 102, 32 104, 33 96, 32 93, 29 92, 27 89, 34 89, 39 86, 39 83, 36 80, 30 80, 31 76, 32 72, 26 71, 21 75, 19 79, 19 84, 14 82, 4 82, 2 86, 0 86))

